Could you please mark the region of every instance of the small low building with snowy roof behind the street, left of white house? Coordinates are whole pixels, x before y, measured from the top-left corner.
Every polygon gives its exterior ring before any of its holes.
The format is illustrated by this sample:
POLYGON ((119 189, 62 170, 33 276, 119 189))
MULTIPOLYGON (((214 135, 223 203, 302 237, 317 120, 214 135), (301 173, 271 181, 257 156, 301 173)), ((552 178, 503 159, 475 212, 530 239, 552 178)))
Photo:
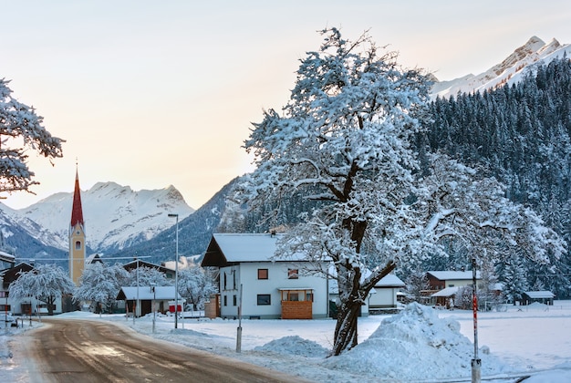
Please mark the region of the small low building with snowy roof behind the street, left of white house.
POLYGON ((177 298, 182 305, 182 296, 174 294, 174 286, 121 287, 117 295, 118 301, 125 301, 128 313, 137 310, 137 316, 146 316, 153 311, 165 313, 169 310, 169 302, 177 298))

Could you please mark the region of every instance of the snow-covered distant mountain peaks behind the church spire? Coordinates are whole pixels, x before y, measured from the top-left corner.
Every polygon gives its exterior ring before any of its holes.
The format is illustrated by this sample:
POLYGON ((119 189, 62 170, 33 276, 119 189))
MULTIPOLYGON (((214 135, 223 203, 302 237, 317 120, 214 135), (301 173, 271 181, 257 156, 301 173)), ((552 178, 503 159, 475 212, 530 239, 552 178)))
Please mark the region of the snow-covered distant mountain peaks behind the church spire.
MULTIPOLYGON (((16 213, 22 222, 30 220, 47 229, 42 236, 51 238, 40 240, 67 249, 72 200, 72 192, 58 192, 16 213)), ((151 239, 175 223, 168 216, 171 212, 178 213, 180 219, 194 212, 172 185, 133 191, 116 182, 98 182, 81 191, 81 202, 88 246, 99 253, 151 239)))

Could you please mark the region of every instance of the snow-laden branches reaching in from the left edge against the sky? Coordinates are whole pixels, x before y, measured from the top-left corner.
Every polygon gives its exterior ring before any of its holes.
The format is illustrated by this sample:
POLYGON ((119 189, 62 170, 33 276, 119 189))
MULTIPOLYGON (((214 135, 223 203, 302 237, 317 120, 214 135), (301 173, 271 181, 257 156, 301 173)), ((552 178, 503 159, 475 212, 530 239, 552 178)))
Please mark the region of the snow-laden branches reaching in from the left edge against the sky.
POLYGON ((43 126, 36 110, 12 97, 9 81, 0 79, 0 191, 28 191, 39 182, 27 166, 29 150, 52 160, 62 157, 61 143, 43 126))

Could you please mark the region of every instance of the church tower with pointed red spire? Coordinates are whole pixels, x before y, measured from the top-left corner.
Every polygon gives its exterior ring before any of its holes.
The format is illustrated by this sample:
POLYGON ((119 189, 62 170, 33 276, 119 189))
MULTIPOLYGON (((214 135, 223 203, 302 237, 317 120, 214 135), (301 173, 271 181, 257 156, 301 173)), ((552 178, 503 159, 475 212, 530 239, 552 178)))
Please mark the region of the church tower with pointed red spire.
POLYGON ((73 191, 71 223, 69 224, 69 277, 78 285, 79 277, 85 267, 85 223, 81 208, 78 170, 76 169, 76 187, 73 191))

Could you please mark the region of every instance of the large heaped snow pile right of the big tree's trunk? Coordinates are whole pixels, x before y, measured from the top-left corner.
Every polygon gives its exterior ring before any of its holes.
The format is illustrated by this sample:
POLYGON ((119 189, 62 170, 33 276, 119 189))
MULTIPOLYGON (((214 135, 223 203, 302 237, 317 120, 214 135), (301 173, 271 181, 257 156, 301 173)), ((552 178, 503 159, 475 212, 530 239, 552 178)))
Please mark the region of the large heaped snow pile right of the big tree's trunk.
MULTIPOLYGON (((479 352, 482 375, 509 372, 510 368, 479 352)), ((460 324, 439 318, 429 306, 408 305, 399 315, 384 319, 369 339, 342 354, 330 357, 324 366, 332 369, 368 371, 377 377, 399 380, 432 380, 470 377, 473 344, 460 333, 460 324)))

